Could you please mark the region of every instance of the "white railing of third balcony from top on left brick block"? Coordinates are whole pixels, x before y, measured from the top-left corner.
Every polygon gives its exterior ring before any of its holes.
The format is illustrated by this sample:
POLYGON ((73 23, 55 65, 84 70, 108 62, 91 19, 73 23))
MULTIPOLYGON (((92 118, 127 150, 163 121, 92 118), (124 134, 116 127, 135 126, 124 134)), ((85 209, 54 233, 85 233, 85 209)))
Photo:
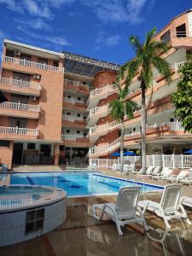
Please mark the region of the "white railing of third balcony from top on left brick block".
POLYGON ((22 110, 22 111, 30 111, 30 112, 40 112, 41 108, 37 105, 29 105, 23 103, 15 103, 15 102, 2 102, 0 103, 0 108, 7 108, 13 110, 22 110))

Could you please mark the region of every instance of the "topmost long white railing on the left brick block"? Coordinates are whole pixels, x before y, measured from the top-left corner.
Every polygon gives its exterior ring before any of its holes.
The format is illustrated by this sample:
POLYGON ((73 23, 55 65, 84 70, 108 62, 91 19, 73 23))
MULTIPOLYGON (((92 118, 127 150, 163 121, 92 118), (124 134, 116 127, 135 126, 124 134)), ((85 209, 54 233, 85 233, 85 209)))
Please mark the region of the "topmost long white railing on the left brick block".
POLYGON ((13 57, 9 57, 9 56, 4 56, 4 55, 2 57, 2 61, 10 63, 10 64, 24 66, 24 67, 32 67, 32 68, 48 70, 48 71, 56 72, 56 73, 64 73, 64 67, 54 67, 54 66, 47 65, 45 63, 42 64, 42 63, 33 62, 33 61, 26 61, 26 60, 22 60, 19 58, 17 59, 17 58, 13 58, 13 57))

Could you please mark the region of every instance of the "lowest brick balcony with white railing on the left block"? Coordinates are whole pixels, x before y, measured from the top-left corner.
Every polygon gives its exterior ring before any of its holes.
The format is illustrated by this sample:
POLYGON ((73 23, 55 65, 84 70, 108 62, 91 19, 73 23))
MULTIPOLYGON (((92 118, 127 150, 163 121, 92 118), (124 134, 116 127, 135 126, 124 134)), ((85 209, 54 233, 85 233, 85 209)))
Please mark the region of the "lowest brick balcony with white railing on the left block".
POLYGON ((0 126, 0 138, 6 140, 36 140, 39 131, 37 129, 0 126))

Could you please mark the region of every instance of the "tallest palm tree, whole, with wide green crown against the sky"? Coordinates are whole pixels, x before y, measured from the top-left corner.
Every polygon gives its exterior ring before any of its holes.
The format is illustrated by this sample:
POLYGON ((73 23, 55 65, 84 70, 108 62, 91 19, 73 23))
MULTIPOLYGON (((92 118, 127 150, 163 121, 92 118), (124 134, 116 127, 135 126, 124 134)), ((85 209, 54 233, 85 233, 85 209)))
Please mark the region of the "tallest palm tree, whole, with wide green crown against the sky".
POLYGON ((141 102, 141 122, 142 122, 142 170, 143 174, 146 172, 146 125, 147 125, 147 108, 145 92, 153 86, 153 67, 163 74, 166 82, 171 81, 171 68, 169 63, 160 56, 169 48, 163 41, 156 41, 153 36, 156 29, 153 28, 147 32, 145 41, 142 44, 140 39, 136 36, 130 37, 131 47, 136 53, 136 57, 131 61, 127 61, 121 68, 119 79, 123 79, 125 84, 131 84, 133 77, 139 72, 138 80, 140 81, 140 88, 142 93, 141 102))

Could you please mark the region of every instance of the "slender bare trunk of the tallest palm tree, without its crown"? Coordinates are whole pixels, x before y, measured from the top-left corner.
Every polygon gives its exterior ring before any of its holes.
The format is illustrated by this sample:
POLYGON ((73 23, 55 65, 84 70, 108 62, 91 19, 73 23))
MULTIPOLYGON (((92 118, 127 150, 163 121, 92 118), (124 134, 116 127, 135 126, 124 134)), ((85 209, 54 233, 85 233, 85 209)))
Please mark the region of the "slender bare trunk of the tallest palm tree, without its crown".
POLYGON ((142 108, 141 108, 141 117, 142 117, 142 173, 146 172, 146 125, 147 125, 147 111, 146 111, 146 99, 145 99, 145 84, 141 83, 142 90, 142 108))

